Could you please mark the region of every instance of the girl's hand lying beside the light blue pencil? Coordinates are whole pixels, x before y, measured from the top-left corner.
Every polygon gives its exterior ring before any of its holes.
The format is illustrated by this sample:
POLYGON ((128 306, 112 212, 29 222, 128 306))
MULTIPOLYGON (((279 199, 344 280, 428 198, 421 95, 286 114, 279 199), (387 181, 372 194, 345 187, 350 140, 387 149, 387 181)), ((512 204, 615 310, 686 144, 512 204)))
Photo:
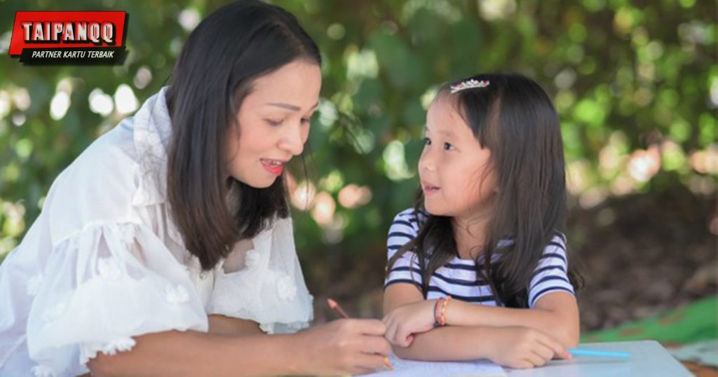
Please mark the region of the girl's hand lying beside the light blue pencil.
POLYGON ((571 358, 561 343, 543 332, 528 327, 493 327, 490 331, 483 340, 491 343, 488 358, 502 366, 526 369, 543 366, 552 358, 571 358))

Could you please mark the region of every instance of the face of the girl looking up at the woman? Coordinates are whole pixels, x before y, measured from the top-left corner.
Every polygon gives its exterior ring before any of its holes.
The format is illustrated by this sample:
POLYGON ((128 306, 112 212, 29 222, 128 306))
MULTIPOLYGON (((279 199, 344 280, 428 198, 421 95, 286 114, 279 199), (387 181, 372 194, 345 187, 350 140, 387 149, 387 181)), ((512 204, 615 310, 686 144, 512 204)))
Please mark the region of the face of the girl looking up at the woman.
POLYGON ((419 177, 424 207, 432 215, 471 218, 497 189, 491 151, 482 148, 447 96, 439 94, 426 114, 419 177))

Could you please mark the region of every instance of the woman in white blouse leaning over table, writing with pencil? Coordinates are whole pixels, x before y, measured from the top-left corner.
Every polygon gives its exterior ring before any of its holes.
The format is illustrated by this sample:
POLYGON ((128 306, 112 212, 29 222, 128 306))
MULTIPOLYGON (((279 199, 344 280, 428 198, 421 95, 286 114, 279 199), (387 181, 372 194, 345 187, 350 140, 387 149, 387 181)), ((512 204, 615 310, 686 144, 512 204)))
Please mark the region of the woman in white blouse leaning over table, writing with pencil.
POLYGON ((312 320, 285 200, 320 55, 245 0, 190 34, 172 82, 52 184, 0 266, 0 376, 366 373, 378 320, 312 320))

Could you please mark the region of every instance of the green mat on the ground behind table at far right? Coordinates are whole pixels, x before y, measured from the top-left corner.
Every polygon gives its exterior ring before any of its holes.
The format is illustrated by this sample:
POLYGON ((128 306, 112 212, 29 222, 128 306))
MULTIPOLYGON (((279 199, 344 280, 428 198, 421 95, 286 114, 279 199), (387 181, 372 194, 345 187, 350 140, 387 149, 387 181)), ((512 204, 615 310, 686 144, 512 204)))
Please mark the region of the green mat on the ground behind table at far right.
POLYGON ((581 335, 582 342, 654 339, 663 344, 718 339, 718 296, 700 299, 658 317, 581 335))

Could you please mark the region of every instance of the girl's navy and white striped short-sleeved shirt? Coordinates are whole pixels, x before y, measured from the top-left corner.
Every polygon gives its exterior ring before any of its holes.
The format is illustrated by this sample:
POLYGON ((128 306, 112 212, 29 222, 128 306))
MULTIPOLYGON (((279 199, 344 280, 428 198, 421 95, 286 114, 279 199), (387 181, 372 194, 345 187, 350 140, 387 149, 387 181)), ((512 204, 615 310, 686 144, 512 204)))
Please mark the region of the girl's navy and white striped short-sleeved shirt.
MULTIPOLYGON (((425 213, 414 215, 414 208, 409 208, 396 215, 387 238, 388 259, 398 251, 401 246, 414 239, 419 233, 419 221, 426 220, 425 213)), ((511 242, 505 240, 503 242, 511 242)), ((500 243, 499 246, 502 246, 500 243)), ((498 254, 493 255, 493 261, 498 254)), ((528 307, 533 308, 536 301, 550 292, 564 291, 574 294, 574 287, 567 276, 566 239, 563 234, 557 234, 544 248, 544 255, 538 261, 531 282, 528 287, 528 307)), ((395 261, 389 270, 384 289, 395 283, 415 284, 421 289, 421 272, 416 253, 406 251, 395 261)), ((476 262, 470 259, 460 259, 454 256, 444 266, 439 267, 429 279, 429 291, 426 299, 451 296, 465 302, 475 302, 496 306, 495 297, 491 288, 485 281, 477 279, 476 262)))

